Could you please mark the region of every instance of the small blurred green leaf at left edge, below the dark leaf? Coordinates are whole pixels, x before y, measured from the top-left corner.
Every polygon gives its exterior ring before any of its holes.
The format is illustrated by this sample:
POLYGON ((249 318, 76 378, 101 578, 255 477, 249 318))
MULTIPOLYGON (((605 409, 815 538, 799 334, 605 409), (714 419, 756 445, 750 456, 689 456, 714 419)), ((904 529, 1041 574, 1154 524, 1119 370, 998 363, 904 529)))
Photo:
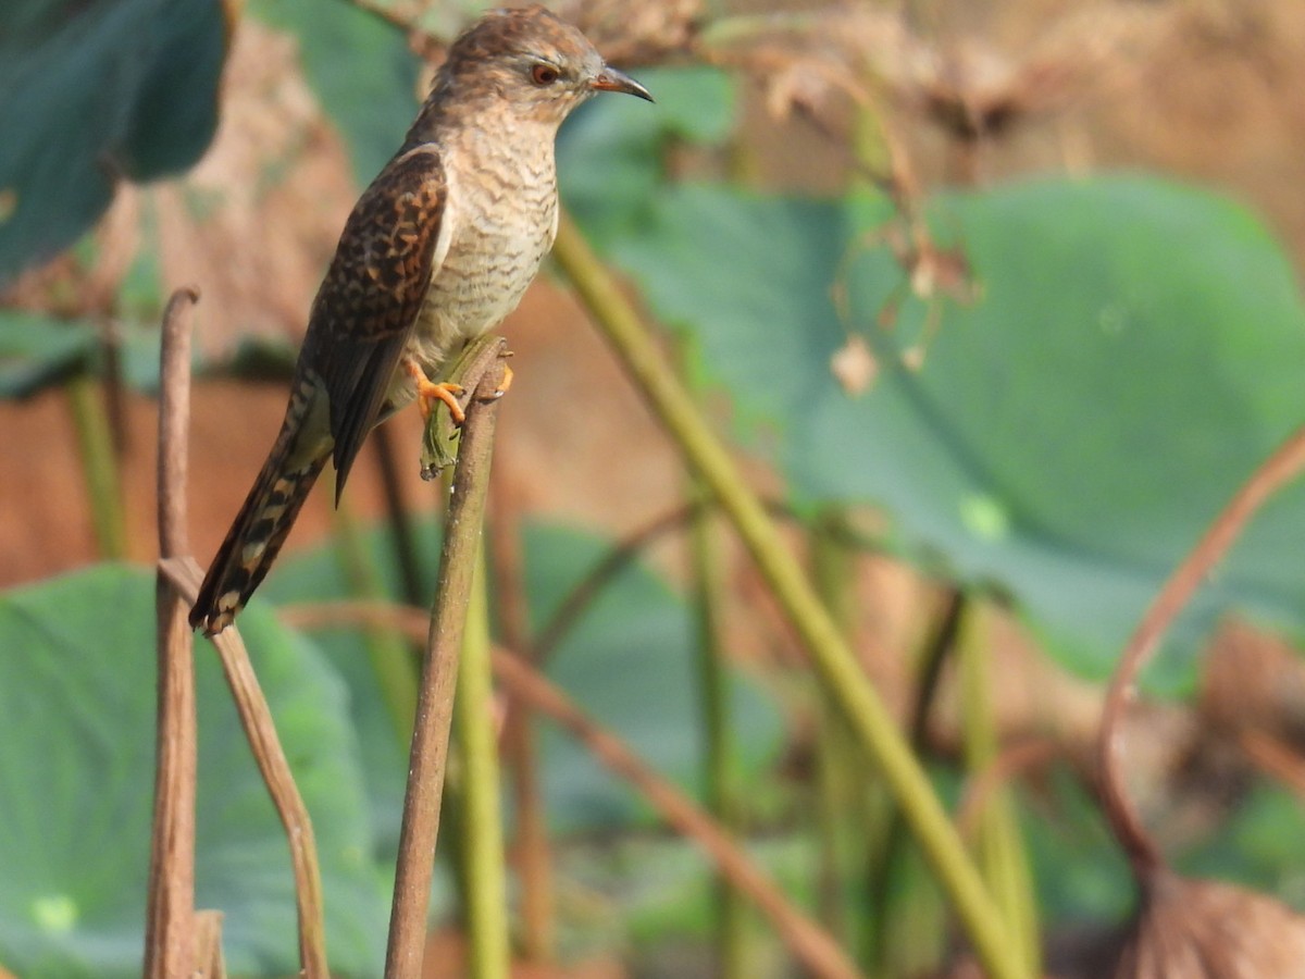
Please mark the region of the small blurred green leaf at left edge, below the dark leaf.
POLYGON ((0 311, 0 398, 29 398, 87 368, 99 347, 93 326, 0 311))

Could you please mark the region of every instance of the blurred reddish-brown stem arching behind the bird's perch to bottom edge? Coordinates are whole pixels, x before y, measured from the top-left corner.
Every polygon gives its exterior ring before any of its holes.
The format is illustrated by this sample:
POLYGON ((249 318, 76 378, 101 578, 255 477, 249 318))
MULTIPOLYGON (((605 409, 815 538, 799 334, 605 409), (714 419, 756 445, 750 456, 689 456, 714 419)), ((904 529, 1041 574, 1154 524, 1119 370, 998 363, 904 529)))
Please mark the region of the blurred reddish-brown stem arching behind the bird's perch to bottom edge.
MULTIPOLYGON (((282 610, 282 619, 300 628, 393 623, 411 634, 419 634, 427 625, 427 617, 420 610, 382 603, 296 606, 282 610)), ((696 841, 715 862, 720 873, 766 915, 793 954, 814 975, 846 979, 860 975, 838 944, 793 907, 726 830, 676 786, 650 769, 620 738, 589 718, 565 693, 519 657, 495 653, 493 670, 510 696, 530 704, 574 735, 595 758, 629 782, 676 831, 696 841)))

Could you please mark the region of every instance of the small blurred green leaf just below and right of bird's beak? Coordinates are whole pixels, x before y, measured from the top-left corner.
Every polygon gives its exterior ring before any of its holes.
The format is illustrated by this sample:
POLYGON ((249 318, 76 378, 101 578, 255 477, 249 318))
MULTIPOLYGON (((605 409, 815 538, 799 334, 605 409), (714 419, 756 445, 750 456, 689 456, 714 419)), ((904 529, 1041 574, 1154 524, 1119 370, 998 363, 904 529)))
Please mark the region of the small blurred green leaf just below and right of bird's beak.
POLYGON ((562 200, 595 240, 639 230, 673 141, 716 145, 733 127, 733 84, 724 72, 649 68, 638 78, 655 104, 600 95, 582 106, 557 138, 562 200))

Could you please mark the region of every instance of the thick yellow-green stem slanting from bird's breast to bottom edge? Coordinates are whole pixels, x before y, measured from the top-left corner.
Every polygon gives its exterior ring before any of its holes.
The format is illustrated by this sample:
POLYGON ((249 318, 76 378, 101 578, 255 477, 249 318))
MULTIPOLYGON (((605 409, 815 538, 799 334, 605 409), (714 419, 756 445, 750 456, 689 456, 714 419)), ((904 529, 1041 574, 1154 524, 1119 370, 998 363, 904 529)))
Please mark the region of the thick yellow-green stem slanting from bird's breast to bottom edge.
POLYGON ((564 215, 561 221, 553 256, 689 466, 711 488, 733 523, 784 616, 806 647, 831 701, 842 709, 859 744, 883 773, 921 850, 951 898, 979 961, 996 979, 1027 976, 1018 957, 1009 954, 1004 922, 887 705, 867 680, 851 647, 735 461, 698 416, 638 313, 569 217, 564 215))

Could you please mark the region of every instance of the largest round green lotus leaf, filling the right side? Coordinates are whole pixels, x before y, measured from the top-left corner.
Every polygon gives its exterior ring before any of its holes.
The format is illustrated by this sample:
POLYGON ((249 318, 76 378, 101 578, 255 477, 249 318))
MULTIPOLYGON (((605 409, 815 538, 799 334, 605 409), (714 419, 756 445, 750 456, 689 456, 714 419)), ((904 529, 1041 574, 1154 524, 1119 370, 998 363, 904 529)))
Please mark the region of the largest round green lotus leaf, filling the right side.
MULTIPOLYGON (((1301 419, 1291 265, 1240 208, 1154 179, 1043 180, 929 211, 979 296, 930 300, 941 330, 919 372, 876 325, 904 281, 869 247, 887 214, 878 198, 669 188, 613 253, 663 317, 699 334, 703 369, 740 414, 767 420, 803 500, 886 508, 907 552, 1009 590, 1066 662, 1101 675, 1301 419), (847 326, 830 300, 840 270, 847 326), (882 368, 860 398, 829 372, 848 328, 882 368)), ((924 317, 917 302, 902 309, 903 343, 924 317)), ((1305 624, 1302 506, 1297 487, 1262 514, 1174 645, 1229 604, 1305 624)), ((1169 683, 1190 680, 1171 666, 1169 683)))

